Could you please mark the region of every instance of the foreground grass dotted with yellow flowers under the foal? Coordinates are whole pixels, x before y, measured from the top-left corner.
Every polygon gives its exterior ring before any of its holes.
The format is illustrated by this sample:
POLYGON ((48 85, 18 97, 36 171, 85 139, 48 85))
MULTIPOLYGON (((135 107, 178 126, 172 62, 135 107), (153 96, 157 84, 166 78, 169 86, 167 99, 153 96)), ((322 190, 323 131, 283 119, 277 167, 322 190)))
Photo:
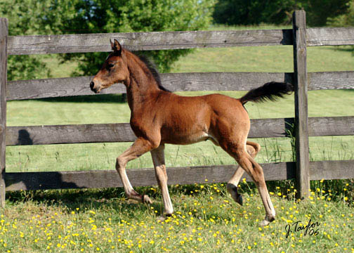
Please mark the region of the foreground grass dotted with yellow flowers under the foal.
MULTIPOLYGON (((353 207, 345 197, 334 202, 319 186, 298 202, 293 186, 275 188, 270 195, 278 218, 261 228, 260 197, 247 183, 241 188, 244 207, 222 184, 171 186, 175 213, 162 222, 161 201, 126 201, 119 189, 11 194, 0 215, 0 251, 353 252, 353 207), (296 221, 318 226, 294 231, 296 221)), ((138 190, 160 200, 157 188, 138 190)))

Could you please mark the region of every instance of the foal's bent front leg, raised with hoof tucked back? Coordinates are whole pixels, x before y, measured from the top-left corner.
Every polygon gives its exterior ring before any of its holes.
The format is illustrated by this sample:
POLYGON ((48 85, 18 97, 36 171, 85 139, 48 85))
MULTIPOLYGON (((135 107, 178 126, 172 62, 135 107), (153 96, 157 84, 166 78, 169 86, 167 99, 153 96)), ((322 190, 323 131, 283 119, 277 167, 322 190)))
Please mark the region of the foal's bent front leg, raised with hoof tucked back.
POLYGON ((133 186, 131 186, 128 176, 126 175, 126 163, 140 157, 140 155, 147 153, 153 148, 155 147, 152 145, 152 143, 150 143, 150 141, 147 141, 144 138, 138 138, 133 143, 133 145, 131 145, 130 148, 125 150, 124 153, 122 153, 122 155, 119 155, 119 157, 117 158, 116 169, 120 178, 122 179, 126 197, 144 203, 152 203, 150 197, 148 197, 147 195, 138 194, 133 189, 133 186))

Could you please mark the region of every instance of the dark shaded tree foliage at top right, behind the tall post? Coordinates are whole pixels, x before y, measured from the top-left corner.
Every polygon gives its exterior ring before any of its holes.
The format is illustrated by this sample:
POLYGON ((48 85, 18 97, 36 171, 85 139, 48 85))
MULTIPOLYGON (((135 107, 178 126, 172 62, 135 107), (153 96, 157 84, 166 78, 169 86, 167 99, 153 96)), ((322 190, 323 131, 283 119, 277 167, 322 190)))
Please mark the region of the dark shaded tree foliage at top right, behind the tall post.
POLYGON ((228 25, 291 22, 295 10, 306 11, 307 24, 324 26, 329 18, 346 13, 352 0, 219 0, 214 20, 228 25))

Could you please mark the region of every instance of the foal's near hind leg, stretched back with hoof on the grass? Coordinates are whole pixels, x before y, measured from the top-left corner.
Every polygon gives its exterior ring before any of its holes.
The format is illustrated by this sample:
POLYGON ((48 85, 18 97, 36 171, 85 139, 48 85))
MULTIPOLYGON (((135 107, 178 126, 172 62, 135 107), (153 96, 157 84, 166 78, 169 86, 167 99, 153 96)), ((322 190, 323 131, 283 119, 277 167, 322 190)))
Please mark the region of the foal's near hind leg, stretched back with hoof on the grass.
POLYGON ((253 179, 261 195, 261 199, 265 208, 265 219, 260 223, 261 226, 268 225, 275 219, 275 209, 265 185, 262 167, 247 153, 245 146, 235 145, 234 143, 226 143, 222 148, 235 158, 238 164, 253 179))

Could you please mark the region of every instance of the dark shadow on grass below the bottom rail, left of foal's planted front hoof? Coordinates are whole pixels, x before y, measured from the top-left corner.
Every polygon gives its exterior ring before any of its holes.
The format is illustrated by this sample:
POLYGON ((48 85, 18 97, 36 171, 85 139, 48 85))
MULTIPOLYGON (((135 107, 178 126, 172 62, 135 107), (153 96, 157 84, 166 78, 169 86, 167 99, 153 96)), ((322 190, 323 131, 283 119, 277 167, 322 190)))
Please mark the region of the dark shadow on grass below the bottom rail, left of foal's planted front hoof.
POLYGON ((60 207, 67 213, 107 210, 107 212, 124 213, 124 216, 133 218, 137 210, 148 212, 153 207, 157 210, 157 216, 162 215, 164 207, 160 195, 146 187, 136 188, 136 190, 152 197, 152 204, 146 205, 126 199, 123 188, 14 191, 6 193, 6 199, 13 204, 32 201, 47 207, 60 207))

